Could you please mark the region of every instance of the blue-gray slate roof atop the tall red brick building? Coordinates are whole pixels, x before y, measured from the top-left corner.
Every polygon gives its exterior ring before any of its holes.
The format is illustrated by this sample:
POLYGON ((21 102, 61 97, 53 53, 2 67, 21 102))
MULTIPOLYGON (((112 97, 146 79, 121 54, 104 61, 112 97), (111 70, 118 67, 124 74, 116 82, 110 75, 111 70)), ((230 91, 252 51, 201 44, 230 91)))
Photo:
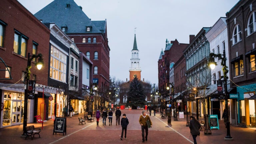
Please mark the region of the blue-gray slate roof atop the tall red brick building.
POLYGON ((34 16, 43 23, 55 22, 60 28, 66 26, 66 33, 101 33, 100 30, 106 32, 106 20, 91 21, 74 0, 54 0, 34 16), (92 31, 86 32, 86 26, 92 27, 92 31))

